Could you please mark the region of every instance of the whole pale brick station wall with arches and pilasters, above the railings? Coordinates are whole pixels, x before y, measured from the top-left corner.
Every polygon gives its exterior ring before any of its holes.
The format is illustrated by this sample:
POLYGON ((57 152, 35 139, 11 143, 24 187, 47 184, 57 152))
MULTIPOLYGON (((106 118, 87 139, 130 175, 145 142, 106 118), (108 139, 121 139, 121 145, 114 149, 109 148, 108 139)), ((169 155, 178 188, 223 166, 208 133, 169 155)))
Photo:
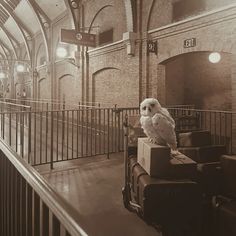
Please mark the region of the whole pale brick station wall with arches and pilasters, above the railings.
MULTIPOLYGON (((114 103, 122 106, 137 106, 143 98, 153 96, 158 97, 162 103, 187 104, 193 101, 204 108, 209 108, 209 104, 212 105, 212 108, 230 108, 231 104, 235 107, 235 99, 233 98, 230 102, 230 88, 232 88, 233 94, 235 90, 233 81, 236 78, 235 73, 229 71, 230 55, 236 54, 236 8, 199 18, 188 17, 188 20, 171 24, 173 1, 147 0, 145 3, 141 0, 137 1, 138 27, 134 56, 127 55, 126 43, 122 41, 123 33, 128 31, 127 21, 132 18, 130 15, 126 15, 128 11, 125 9, 124 2, 127 3, 128 0, 91 0, 84 2, 84 15, 80 17, 80 22, 83 22, 81 26, 95 26, 95 28, 91 28, 92 33, 114 28, 115 44, 95 49, 89 48, 88 52, 86 52, 85 47, 81 47, 80 52, 77 52, 80 55, 80 58, 78 58, 79 68, 68 62, 55 63, 57 60, 55 51, 60 29, 73 27, 69 14, 60 16, 52 22, 52 38, 49 45, 52 51, 51 63, 48 66, 38 68, 37 83, 45 78, 44 84, 40 85, 45 86, 44 90, 47 91, 45 96, 58 99, 60 97, 59 86, 63 86, 64 92, 71 94, 74 100, 84 99, 105 103, 109 99, 104 95, 108 93, 110 96, 115 94, 116 96, 112 96, 114 103), (139 9, 139 7, 141 8, 139 9), (139 21, 141 21, 140 24, 138 24, 139 21), (183 41, 192 37, 197 40, 196 47, 183 48, 183 41), (147 39, 158 41, 158 55, 147 54, 147 39), (184 59, 171 60, 171 58, 178 55, 199 51, 219 51, 229 54, 225 56, 223 63, 215 65, 217 68, 206 66, 202 63, 202 60, 199 61, 194 57, 190 58, 189 63, 184 59), (169 60, 168 64, 166 63, 167 60, 169 60), (190 61, 194 61, 193 64, 198 65, 198 70, 195 72, 190 61), (188 70, 183 71, 183 68, 186 67, 190 68, 189 72, 188 70), (197 71, 201 74, 198 75, 197 71), (192 80, 188 80, 192 84, 185 81, 186 88, 183 89, 183 78, 189 77, 192 72, 195 73, 195 76, 192 80), (214 81, 212 79, 214 72, 218 72, 217 80, 220 81, 218 85, 224 88, 224 91, 217 91, 219 90, 217 85, 210 86, 212 88, 211 96, 206 99, 205 95, 209 91, 204 90, 204 94, 201 91, 200 96, 204 95, 203 97, 205 97, 205 100, 201 102, 197 101, 200 91, 195 90, 195 99, 187 94, 186 91, 190 90, 189 87, 191 86, 196 88, 209 87, 207 81, 214 81), (66 85, 67 82, 60 85, 64 82, 63 80, 62 82, 59 81, 59 78, 67 74, 73 77, 73 81, 75 81, 73 86, 66 85), (184 76, 181 76, 183 74, 184 76), (203 79, 204 77, 209 79, 206 81, 203 79), (175 86, 173 86, 173 80, 178 80, 175 86), (198 86, 196 85, 197 80, 198 86), (229 81, 232 81, 231 87, 229 81), (199 82, 201 82, 200 86, 199 82), (118 90, 120 91, 119 94, 118 90), (217 93, 214 93, 214 91, 217 91, 217 93), (120 94, 121 96, 118 96, 120 94)), ((206 11, 235 2, 233 0, 207 0, 206 11)), ((88 30, 88 28, 84 29, 88 30)), ((45 47, 40 46, 42 43, 42 35, 35 35, 34 44, 32 44, 35 65, 38 65, 40 57, 45 56, 45 47)), ((25 54, 23 48, 21 55, 25 54)), ((70 45, 69 49, 70 56, 74 57, 76 47, 70 45)), ((232 63, 232 67, 235 67, 235 64, 232 63)), ((37 86, 36 84, 35 94, 38 91, 37 86)), ((35 97, 37 97, 36 95, 35 97)))

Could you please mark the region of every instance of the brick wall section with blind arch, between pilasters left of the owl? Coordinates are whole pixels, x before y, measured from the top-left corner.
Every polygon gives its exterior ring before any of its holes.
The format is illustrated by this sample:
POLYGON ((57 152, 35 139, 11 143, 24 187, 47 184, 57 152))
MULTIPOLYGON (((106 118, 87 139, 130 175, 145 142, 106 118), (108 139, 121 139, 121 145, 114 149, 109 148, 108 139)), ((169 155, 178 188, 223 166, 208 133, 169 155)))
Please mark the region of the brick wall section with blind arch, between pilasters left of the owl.
POLYGON ((90 101, 139 105, 138 58, 128 57, 123 43, 89 52, 90 101))

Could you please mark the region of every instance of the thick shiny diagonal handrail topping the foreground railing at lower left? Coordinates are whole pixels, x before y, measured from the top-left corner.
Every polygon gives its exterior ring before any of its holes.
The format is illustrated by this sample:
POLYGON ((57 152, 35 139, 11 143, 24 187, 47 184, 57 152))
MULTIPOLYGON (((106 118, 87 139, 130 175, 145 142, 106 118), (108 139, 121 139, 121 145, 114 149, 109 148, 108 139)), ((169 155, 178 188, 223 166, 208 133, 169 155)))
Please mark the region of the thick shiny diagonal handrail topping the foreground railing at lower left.
POLYGON ((26 163, 10 146, 0 138, 0 150, 25 178, 43 202, 54 215, 63 222, 66 230, 74 236, 86 236, 87 233, 80 226, 79 213, 64 200, 45 179, 28 163, 26 163))

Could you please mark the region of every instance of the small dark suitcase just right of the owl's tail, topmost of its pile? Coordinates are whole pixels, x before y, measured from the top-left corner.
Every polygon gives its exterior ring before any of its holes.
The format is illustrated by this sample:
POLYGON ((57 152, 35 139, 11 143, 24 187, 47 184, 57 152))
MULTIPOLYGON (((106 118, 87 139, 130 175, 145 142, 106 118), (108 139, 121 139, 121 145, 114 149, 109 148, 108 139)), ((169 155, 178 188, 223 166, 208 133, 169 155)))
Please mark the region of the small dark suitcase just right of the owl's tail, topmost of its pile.
POLYGON ((211 145, 211 134, 207 130, 197 130, 178 134, 179 147, 201 147, 211 145))

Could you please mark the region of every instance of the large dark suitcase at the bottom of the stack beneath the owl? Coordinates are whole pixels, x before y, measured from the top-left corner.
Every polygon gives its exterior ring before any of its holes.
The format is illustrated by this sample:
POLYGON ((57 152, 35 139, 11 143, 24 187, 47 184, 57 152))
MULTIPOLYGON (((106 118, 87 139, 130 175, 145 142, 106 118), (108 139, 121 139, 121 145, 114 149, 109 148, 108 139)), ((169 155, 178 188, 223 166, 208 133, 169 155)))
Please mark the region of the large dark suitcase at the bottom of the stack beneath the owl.
POLYGON ((170 235, 198 235, 201 194, 195 182, 152 178, 141 174, 137 187, 137 203, 147 222, 162 225, 172 231, 170 235))

